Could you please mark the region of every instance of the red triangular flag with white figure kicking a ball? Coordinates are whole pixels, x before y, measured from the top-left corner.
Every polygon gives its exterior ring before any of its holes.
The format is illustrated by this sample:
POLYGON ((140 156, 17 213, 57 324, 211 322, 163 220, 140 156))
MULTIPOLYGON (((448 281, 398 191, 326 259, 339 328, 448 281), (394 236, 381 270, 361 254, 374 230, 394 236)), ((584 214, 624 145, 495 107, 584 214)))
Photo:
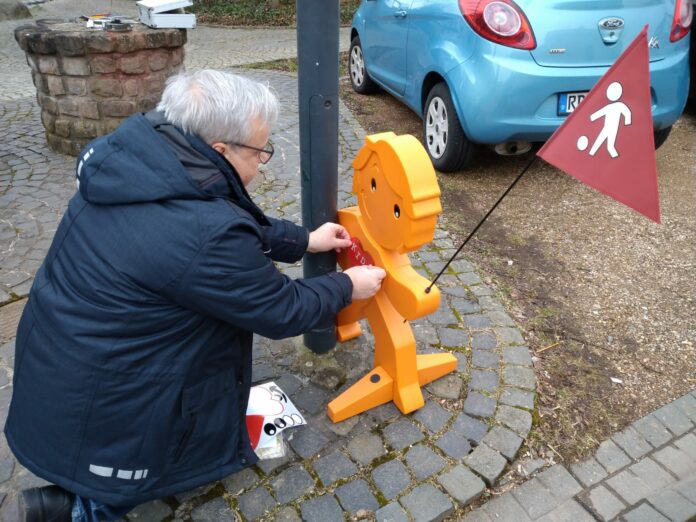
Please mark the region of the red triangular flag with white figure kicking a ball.
POLYGON ((537 155, 659 223, 647 34, 646 26, 537 155))

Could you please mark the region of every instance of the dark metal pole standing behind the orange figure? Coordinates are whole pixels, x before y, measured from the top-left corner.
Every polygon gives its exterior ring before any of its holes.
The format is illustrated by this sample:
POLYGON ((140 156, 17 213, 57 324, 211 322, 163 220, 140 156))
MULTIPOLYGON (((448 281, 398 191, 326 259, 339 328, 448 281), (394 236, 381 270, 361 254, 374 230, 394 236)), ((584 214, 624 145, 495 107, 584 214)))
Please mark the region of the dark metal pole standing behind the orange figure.
MULTIPOLYGON (((338 193, 339 0, 297 0, 302 223, 310 230, 336 221, 338 193)), ((305 254, 304 276, 336 270, 333 252, 305 254)), ((336 327, 319 325, 304 336, 315 353, 336 346, 336 327)))

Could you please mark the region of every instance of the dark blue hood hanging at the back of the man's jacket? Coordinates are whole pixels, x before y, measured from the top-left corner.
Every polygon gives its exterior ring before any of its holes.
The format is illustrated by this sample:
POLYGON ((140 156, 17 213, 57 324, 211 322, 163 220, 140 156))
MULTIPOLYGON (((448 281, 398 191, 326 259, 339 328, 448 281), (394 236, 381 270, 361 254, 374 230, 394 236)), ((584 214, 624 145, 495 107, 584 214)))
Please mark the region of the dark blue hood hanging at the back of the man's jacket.
POLYGON ((82 197, 100 205, 210 197, 142 114, 92 141, 78 158, 76 173, 82 197))

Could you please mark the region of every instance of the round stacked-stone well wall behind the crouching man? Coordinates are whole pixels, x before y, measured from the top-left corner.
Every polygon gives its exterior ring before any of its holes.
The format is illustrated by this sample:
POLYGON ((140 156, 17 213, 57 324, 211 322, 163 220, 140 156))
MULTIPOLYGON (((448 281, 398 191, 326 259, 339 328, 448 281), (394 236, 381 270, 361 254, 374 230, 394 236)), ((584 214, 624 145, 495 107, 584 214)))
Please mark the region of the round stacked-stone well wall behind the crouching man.
POLYGON ((31 67, 46 141, 76 156, 126 117, 157 104, 183 66, 186 31, 136 24, 128 32, 61 20, 15 29, 31 67))

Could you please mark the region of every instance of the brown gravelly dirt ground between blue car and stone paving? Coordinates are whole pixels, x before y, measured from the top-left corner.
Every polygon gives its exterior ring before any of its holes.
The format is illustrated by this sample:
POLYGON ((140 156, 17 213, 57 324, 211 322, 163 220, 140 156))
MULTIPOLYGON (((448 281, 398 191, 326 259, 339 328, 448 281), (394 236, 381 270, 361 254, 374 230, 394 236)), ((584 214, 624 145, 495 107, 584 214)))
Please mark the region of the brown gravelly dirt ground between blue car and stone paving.
MULTIPOLYGON (((341 96, 368 132, 421 137, 420 119, 380 93, 341 96)), ((463 240, 532 153, 481 149, 438 173, 441 224, 463 240)), ((573 462, 696 388, 696 108, 657 153, 662 224, 537 159, 460 255, 536 354, 538 417, 525 451, 573 462)))

